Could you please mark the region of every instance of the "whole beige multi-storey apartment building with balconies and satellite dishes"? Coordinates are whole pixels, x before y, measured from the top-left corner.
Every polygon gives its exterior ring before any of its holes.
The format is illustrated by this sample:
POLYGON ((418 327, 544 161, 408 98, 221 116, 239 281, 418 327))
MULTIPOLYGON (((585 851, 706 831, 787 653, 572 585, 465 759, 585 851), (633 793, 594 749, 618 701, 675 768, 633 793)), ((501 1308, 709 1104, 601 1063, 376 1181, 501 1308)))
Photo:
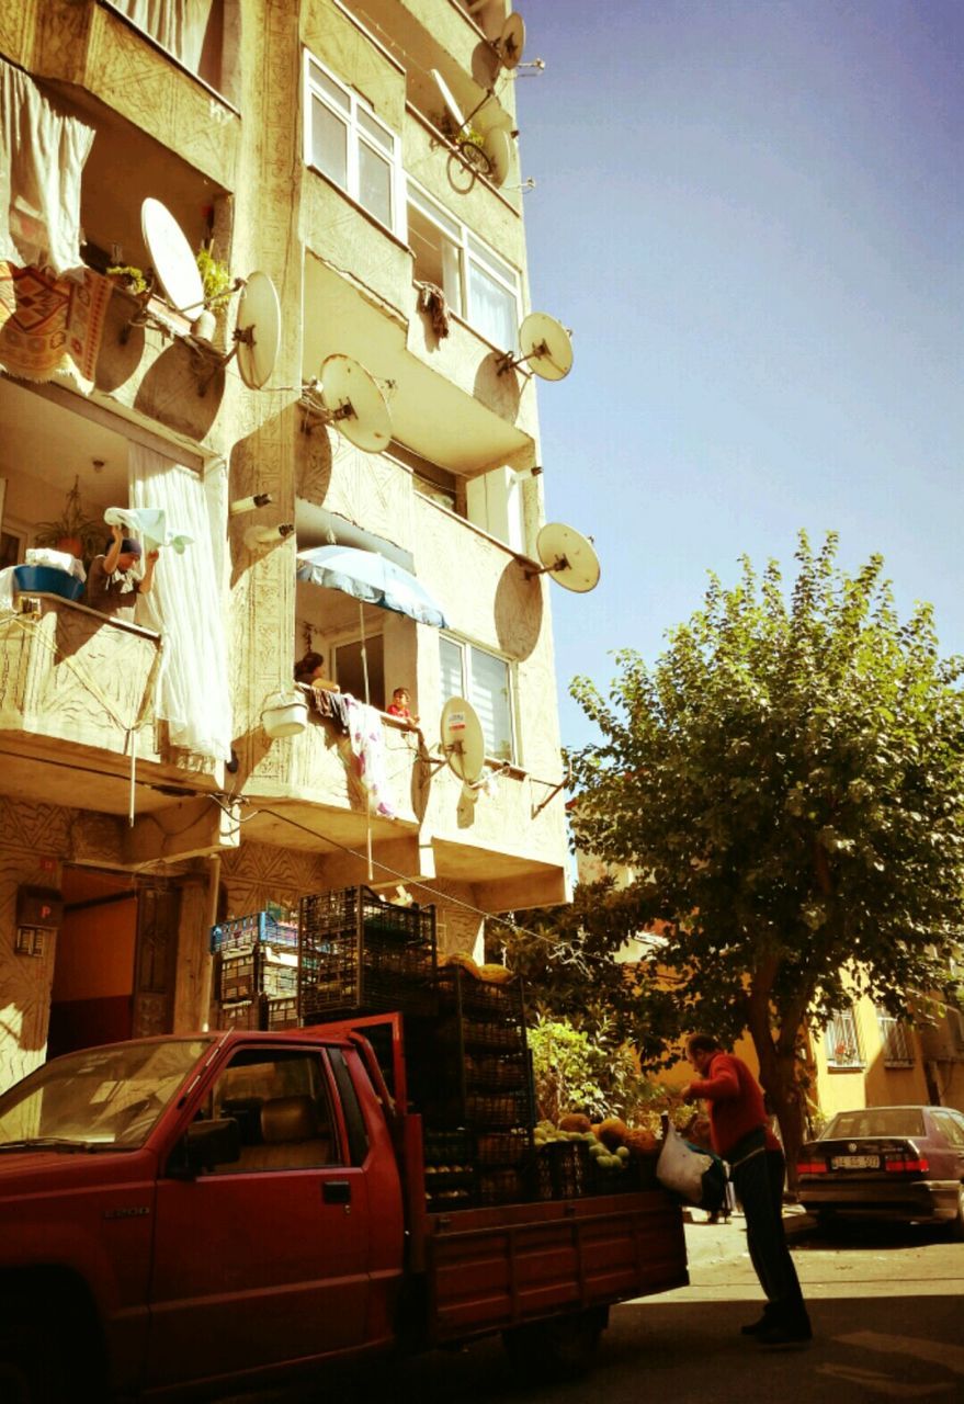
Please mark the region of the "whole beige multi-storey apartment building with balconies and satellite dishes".
POLYGON ((508 10, 0 0, 0 563, 109 508, 161 541, 133 622, 0 574, 0 1087, 202 1025, 217 920, 403 886, 471 949, 567 897, 508 10), (299 578, 333 543, 442 626, 299 578))

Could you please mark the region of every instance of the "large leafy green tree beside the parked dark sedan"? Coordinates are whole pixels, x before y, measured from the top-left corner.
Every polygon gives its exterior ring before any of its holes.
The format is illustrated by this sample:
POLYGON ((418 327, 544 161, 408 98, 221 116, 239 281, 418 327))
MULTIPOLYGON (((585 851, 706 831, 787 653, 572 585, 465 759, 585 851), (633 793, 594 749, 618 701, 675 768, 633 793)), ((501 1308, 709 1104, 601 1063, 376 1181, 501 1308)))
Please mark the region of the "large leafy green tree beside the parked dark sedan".
POLYGON ((643 875, 626 900, 665 922, 682 1026, 749 1031, 790 1165, 804 1022, 845 976, 905 1018, 964 929, 964 664, 930 607, 898 621, 880 556, 850 577, 836 546, 800 535, 789 600, 775 562, 711 576, 652 668, 617 654, 608 702, 573 682, 602 733, 574 758, 577 837, 643 875))

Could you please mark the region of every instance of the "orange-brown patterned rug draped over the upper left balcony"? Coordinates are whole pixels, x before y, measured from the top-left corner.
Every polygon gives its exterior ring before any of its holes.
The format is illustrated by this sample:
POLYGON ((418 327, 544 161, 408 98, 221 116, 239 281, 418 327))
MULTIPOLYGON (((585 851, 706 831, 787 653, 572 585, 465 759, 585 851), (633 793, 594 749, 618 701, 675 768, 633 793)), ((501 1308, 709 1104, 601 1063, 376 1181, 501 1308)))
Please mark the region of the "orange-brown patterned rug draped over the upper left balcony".
POLYGON ((49 380, 70 357, 93 383, 111 281, 83 281, 0 261, 0 365, 25 380, 49 380))

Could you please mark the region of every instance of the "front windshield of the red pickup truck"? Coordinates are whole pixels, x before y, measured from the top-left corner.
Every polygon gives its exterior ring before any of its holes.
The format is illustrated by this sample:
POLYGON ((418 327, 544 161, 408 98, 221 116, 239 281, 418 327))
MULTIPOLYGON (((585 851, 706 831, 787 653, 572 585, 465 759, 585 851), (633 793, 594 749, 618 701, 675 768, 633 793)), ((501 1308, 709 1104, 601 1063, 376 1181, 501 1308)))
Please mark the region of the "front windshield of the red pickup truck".
POLYGON ((67 1053, 0 1097, 4 1147, 143 1146, 212 1039, 115 1043, 67 1053))

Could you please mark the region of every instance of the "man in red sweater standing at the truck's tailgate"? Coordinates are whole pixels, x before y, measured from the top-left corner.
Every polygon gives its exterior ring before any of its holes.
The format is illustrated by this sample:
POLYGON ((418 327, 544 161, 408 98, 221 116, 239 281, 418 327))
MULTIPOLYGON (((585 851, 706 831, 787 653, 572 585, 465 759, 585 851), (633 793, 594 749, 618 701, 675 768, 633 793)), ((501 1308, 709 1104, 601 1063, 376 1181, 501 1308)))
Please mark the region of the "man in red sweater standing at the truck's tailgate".
POLYGON ((768 1127, 763 1092, 742 1059, 706 1033, 688 1040, 686 1057, 697 1077, 683 1088, 683 1101, 709 1104, 713 1150, 730 1161, 749 1257, 766 1293, 763 1316, 744 1335, 763 1345, 803 1345, 812 1331, 783 1233, 783 1153, 768 1127))

